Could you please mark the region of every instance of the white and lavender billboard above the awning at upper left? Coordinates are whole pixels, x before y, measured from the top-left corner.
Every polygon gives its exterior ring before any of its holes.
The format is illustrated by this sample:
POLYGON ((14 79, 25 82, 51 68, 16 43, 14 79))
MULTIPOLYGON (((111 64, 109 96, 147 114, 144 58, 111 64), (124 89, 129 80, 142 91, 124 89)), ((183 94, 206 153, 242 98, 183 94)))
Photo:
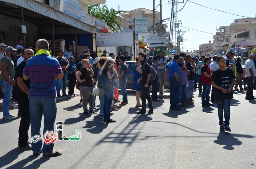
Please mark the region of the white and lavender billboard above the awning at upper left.
POLYGON ((60 10, 78 20, 82 19, 82 3, 77 0, 61 0, 60 10))

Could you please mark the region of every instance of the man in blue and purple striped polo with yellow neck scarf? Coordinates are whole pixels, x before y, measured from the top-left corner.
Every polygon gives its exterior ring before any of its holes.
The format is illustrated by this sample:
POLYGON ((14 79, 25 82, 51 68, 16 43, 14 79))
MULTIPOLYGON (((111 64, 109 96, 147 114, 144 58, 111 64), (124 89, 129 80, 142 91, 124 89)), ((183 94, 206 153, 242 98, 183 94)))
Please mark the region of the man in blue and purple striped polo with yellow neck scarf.
MULTIPOLYGON (((28 59, 23 71, 23 79, 30 79, 29 112, 31 136, 40 136, 42 115, 44 115, 44 133, 54 132, 57 114, 56 87, 54 78, 62 79, 63 72, 58 60, 51 57, 48 41, 39 39, 35 45, 36 54, 28 59)), ((33 155, 40 155, 42 140, 32 142, 33 155)), ((60 151, 54 150, 54 143, 44 142, 43 157, 56 157, 60 151)))

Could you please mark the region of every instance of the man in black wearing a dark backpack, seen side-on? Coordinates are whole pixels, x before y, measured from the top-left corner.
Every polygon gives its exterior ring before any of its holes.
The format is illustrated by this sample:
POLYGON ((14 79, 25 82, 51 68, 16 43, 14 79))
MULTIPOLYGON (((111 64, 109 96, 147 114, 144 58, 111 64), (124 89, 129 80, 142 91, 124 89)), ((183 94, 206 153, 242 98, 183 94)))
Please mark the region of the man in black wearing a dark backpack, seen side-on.
POLYGON ((150 92, 149 92, 149 86, 151 85, 150 81, 150 66, 148 63, 146 63, 146 58, 147 55, 144 52, 140 52, 139 54, 139 59, 142 67, 142 77, 138 80, 138 83, 141 81, 141 101, 142 101, 142 108, 138 112, 138 114, 145 114, 146 113, 146 99, 148 100, 148 107, 149 111, 148 113, 153 114, 153 104, 152 104, 152 99, 150 97, 150 92))

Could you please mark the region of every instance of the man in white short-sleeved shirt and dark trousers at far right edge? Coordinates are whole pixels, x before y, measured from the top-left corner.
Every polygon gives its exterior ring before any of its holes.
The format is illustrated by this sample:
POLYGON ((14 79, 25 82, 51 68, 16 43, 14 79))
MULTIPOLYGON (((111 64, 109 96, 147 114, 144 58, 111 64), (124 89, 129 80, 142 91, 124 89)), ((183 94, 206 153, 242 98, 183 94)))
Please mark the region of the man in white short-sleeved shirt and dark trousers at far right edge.
POLYGON ((253 63, 253 59, 255 58, 255 55, 251 53, 248 57, 248 59, 245 62, 244 69, 245 69, 245 78, 247 82, 247 91, 246 91, 246 100, 253 100, 256 99, 253 96, 253 80, 254 77, 256 77, 256 69, 253 63))

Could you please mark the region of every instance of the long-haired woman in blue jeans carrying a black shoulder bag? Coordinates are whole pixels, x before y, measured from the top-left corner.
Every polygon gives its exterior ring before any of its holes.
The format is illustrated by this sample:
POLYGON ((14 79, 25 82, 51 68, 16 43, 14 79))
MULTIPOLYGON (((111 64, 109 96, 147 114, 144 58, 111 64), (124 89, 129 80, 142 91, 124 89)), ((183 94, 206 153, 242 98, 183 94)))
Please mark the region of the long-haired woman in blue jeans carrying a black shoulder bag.
MULTIPOLYGON (((114 69, 115 62, 114 60, 110 59, 107 60, 104 65, 102 66, 102 69, 100 71, 100 75, 108 76, 108 79, 112 80, 115 69, 114 69)), ((114 85, 109 90, 106 89, 100 89, 100 111, 104 114, 104 120, 103 122, 107 123, 113 123, 116 122, 116 120, 113 120, 110 118, 110 107, 113 101, 114 96, 114 85)))

